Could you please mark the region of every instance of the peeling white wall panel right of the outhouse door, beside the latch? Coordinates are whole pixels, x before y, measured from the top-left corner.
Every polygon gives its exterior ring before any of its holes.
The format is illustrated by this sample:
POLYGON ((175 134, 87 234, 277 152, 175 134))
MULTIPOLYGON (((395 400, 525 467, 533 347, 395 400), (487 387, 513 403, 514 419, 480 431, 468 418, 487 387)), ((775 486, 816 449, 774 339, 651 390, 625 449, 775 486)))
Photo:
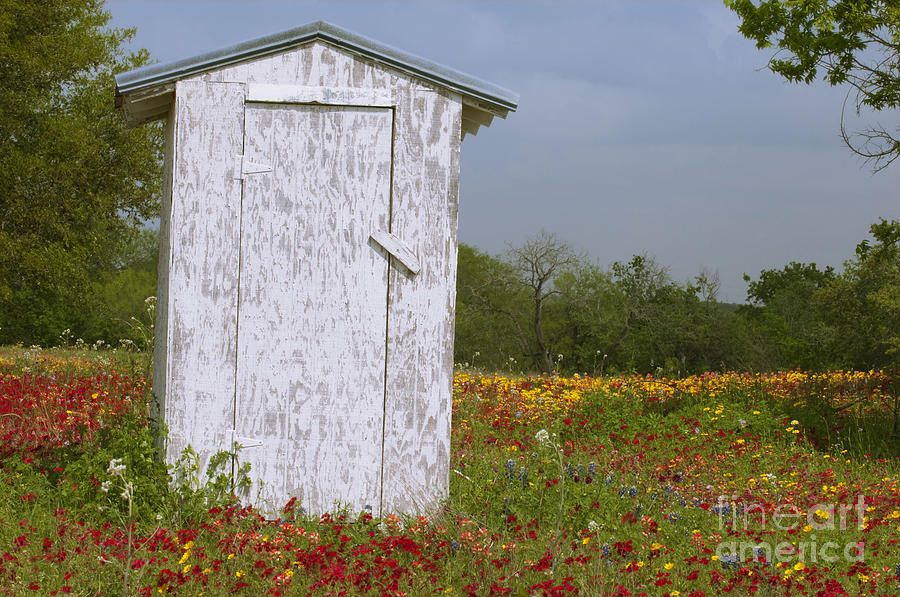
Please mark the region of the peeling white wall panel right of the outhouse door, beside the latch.
POLYGON ((391 231, 413 247, 422 270, 415 279, 391 274, 385 513, 432 508, 449 484, 461 103, 406 89, 396 109, 391 231))

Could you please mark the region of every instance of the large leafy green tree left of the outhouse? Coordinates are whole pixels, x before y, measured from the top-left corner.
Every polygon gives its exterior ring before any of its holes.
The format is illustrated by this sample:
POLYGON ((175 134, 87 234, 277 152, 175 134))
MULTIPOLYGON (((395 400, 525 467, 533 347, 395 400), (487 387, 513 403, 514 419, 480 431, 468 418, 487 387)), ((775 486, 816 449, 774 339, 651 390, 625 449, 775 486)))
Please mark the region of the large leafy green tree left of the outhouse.
POLYGON ((126 129, 113 75, 148 61, 98 0, 0 16, 0 343, 78 333, 91 281, 157 210, 158 127, 126 129))

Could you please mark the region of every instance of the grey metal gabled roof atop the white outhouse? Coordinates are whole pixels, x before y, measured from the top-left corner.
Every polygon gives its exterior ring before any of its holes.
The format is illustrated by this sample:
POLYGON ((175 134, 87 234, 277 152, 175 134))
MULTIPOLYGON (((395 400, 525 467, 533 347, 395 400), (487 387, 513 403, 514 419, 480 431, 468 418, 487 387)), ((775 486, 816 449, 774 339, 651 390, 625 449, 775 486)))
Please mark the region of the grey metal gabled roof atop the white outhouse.
POLYGON ((165 85, 230 64, 276 54, 315 40, 323 40, 348 48, 397 70, 492 104, 503 111, 514 111, 518 106, 519 95, 517 93, 341 29, 325 21, 316 21, 296 29, 267 35, 193 58, 168 64, 154 64, 116 75, 116 95, 122 96, 165 85))

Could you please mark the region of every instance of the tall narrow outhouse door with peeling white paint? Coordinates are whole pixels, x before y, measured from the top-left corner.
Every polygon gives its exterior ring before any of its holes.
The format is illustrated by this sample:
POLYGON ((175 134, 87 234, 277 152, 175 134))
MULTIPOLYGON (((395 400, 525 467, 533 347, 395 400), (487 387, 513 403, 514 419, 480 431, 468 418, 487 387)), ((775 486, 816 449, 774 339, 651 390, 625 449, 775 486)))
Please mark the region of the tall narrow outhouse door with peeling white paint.
POLYGON ((345 91, 244 105, 233 435, 273 512, 381 509, 394 111, 345 91))

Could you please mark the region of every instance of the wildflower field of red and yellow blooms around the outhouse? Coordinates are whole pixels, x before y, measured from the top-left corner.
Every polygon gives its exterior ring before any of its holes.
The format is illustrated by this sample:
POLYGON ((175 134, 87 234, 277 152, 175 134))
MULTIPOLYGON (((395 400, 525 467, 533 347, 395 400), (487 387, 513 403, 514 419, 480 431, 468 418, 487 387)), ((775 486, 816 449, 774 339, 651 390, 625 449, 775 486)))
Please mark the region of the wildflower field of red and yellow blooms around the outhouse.
POLYGON ((460 372, 439 509, 267 520, 91 355, 0 352, 0 595, 900 594, 882 372, 460 372))

